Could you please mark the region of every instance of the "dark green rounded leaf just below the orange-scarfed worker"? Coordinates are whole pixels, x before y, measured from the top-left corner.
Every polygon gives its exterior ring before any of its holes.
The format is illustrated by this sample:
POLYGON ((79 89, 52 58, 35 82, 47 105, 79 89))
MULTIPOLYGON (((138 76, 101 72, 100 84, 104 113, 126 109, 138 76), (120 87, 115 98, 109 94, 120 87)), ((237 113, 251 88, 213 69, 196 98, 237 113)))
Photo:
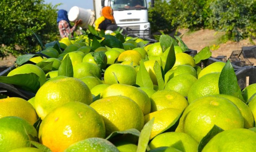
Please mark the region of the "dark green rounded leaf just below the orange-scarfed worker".
POLYGON ((105 39, 101 42, 102 46, 108 46, 110 48, 118 47, 123 49, 123 43, 113 35, 105 35, 105 39))

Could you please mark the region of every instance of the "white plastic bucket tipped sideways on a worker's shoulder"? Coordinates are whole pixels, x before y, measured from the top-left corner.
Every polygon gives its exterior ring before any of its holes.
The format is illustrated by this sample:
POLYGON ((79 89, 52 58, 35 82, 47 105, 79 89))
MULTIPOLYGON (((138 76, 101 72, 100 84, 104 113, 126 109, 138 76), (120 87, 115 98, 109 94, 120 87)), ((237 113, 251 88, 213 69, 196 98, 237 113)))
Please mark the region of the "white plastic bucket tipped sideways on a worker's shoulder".
POLYGON ((68 19, 71 22, 81 19, 82 24, 79 26, 88 28, 88 25, 92 26, 94 24, 95 15, 91 9, 83 9, 78 6, 73 6, 68 12, 68 19))

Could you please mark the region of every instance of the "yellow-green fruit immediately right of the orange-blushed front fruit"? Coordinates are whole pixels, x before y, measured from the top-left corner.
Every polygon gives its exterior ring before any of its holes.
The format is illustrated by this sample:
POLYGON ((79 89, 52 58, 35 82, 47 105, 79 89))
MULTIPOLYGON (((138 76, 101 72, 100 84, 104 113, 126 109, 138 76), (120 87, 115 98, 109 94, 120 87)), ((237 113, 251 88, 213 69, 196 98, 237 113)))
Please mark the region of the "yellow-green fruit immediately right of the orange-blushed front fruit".
POLYGON ((143 112, 128 97, 118 95, 105 97, 94 101, 91 105, 103 118, 106 135, 113 131, 124 131, 135 128, 139 131, 143 128, 143 112))

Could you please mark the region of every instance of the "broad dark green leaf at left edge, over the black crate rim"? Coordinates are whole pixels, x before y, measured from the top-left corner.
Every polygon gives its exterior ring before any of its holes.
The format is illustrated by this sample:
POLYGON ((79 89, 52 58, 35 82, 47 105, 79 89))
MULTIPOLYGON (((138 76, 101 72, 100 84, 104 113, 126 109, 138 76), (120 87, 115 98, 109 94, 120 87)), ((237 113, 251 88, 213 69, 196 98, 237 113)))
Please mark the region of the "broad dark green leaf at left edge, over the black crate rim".
POLYGON ((0 82, 13 84, 34 93, 36 93, 40 87, 39 76, 35 73, 0 76, 0 82))

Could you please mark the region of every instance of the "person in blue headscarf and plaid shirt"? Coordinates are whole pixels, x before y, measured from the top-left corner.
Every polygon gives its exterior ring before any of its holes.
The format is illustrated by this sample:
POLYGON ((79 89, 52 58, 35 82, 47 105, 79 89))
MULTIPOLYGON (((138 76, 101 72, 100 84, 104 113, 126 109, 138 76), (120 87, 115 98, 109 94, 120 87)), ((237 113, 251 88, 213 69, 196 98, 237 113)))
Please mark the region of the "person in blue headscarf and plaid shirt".
POLYGON ((68 12, 64 9, 60 9, 58 11, 58 28, 60 32, 60 36, 62 38, 68 37, 68 35, 71 33, 73 35, 73 32, 76 30, 77 25, 81 24, 81 19, 75 21, 75 25, 71 27, 70 21, 68 20, 68 12))

